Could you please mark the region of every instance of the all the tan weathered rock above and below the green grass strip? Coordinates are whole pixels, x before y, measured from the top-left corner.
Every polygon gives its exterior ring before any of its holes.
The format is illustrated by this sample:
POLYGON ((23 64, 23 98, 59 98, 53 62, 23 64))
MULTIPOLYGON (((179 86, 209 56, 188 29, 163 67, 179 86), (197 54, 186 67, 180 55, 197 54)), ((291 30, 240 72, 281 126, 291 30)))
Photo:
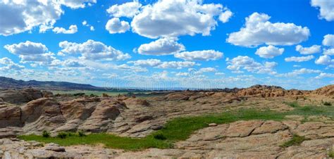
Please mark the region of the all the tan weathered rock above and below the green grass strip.
MULTIPOLYGON (((19 134, 51 135, 61 131, 109 132, 144 137, 180 116, 254 108, 293 110, 283 101, 300 106, 334 103, 332 86, 316 91, 254 86, 233 91, 176 91, 145 98, 135 96, 51 96, 35 90, 28 96, 8 91, 0 96, 0 158, 324 158, 334 144, 334 122, 326 116, 289 115, 284 121, 249 120, 199 129, 171 149, 121 151, 103 146, 58 146, 9 139, 19 134), (35 92, 35 93, 34 93, 35 92), (39 92, 39 93, 38 93, 39 92), (22 103, 22 102, 25 103, 22 103), (26 103, 28 102, 28 103, 26 103), (20 103, 20 104, 15 104, 20 103), (308 121, 309 120, 309 121, 308 121), (305 122, 308 121, 308 122, 305 122), (293 134, 308 140, 282 148, 293 134), (6 139, 1 139, 6 138, 6 139)), ((0 93, 1 94, 1 93, 0 93)))

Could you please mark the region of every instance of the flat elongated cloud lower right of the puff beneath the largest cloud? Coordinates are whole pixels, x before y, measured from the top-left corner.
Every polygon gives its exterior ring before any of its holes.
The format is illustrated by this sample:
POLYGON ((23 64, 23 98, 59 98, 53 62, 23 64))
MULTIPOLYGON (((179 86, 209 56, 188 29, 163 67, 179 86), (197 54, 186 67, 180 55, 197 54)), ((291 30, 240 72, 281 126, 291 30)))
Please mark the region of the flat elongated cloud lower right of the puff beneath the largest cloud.
POLYGON ((182 58, 185 61, 216 61, 223 57, 223 53, 214 50, 184 51, 175 53, 175 58, 182 58))

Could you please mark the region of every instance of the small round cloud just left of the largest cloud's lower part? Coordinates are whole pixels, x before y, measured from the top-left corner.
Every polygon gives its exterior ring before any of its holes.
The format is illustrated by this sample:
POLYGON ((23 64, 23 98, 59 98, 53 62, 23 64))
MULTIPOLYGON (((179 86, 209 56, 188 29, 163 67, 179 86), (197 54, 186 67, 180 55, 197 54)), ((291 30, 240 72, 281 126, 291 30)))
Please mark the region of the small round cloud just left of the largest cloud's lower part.
POLYGON ((106 23, 106 30, 110 34, 123 33, 130 30, 130 25, 128 22, 120 21, 119 18, 112 18, 106 23))

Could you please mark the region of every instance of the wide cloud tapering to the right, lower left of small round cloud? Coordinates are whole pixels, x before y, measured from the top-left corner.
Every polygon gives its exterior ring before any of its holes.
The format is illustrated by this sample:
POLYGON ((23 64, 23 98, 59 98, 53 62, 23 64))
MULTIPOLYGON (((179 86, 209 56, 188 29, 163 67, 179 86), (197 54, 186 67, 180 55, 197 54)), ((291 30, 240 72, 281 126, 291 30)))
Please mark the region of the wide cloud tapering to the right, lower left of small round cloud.
POLYGON ((64 41, 59 43, 59 47, 62 48, 62 53, 80 53, 82 55, 80 58, 86 60, 122 61, 131 57, 128 53, 123 53, 92 39, 81 44, 64 41))

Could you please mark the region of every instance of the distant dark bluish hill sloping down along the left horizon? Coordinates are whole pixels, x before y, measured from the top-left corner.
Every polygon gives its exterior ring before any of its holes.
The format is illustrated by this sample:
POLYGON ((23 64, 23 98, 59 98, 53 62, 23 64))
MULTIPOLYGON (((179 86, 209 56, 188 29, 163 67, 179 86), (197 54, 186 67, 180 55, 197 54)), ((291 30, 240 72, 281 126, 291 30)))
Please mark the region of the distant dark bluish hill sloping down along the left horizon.
POLYGON ((0 77, 0 88, 25 88, 25 87, 37 87, 40 89, 50 89, 50 90, 91 90, 91 91, 106 91, 103 87, 94 87, 90 84, 77 84, 71 82, 54 82, 54 81, 23 81, 16 80, 8 77, 0 77))

